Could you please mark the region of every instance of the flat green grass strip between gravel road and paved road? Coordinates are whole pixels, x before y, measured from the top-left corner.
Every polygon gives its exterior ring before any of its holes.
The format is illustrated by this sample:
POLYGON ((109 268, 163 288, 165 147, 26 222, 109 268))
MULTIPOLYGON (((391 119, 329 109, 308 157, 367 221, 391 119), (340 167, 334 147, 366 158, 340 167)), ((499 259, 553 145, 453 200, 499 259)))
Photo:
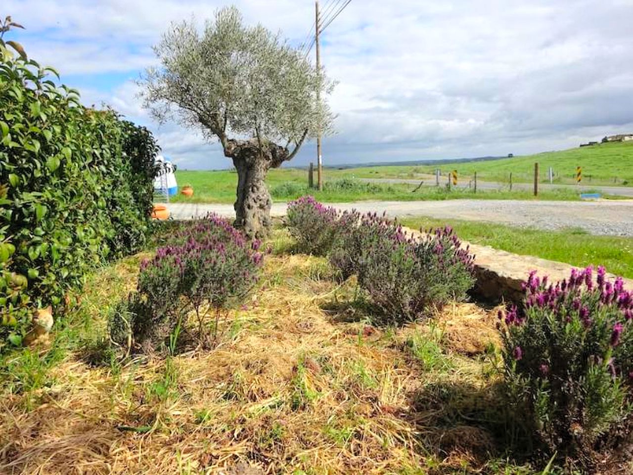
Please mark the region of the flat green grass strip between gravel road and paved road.
MULTIPOLYGON (((194 196, 178 194, 170 198, 175 203, 233 203, 237 174, 232 170, 191 171, 178 170, 176 179, 179 186, 191 185, 194 196)), ((377 184, 366 183, 342 174, 341 170, 325 170, 325 186, 323 191, 308 188, 308 172, 298 168, 281 168, 270 170, 266 184, 273 201, 289 201, 305 194, 312 194, 317 200, 325 203, 348 203, 362 200, 451 200, 456 198, 480 198, 491 200, 532 200, 529 191, 490 190, 477 194, 469 189, 447 190, 445 187, 420 187, 410 184, 377 184)), ((574 190, 561 189, 544 191, 539 194, 540 200, 578 200, 574 190)))

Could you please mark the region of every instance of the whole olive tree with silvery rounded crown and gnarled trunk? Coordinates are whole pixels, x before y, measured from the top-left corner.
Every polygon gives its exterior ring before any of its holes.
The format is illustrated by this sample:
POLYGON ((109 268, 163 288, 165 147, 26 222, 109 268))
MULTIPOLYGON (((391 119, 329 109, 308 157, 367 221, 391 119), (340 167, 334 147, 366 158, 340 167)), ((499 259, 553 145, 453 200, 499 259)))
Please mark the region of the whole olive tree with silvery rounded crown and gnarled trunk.
POLYGON ((158 120, 175 118, 220 142, 237 170, 235 225, 265 236, 266 173, 319 128, 330 130, 323 97, 332 82, 279 34, 244 25, 235 7, 218 10, 201 33, 192 21, 172 24, 154 52, 160 65, 141 79, 144 105, 158 120))

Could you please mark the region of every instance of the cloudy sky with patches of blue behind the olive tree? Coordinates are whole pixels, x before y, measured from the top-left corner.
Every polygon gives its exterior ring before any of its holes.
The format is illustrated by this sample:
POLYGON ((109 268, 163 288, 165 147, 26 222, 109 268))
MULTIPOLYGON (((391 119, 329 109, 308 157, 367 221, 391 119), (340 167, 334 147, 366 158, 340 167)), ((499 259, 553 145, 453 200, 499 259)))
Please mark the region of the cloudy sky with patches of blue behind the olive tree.
MULTIPOLYGON (((341 0, 321 0, 322 9, 341 0)), ((235 0, 246 22, 301 44, 311 0, 235 0)), ((84 103, 148 125, 182 168, 229 165, 217 144, 153 124, 134 80, 172 20, 216 0, 3 0, 13 37, 84 103)), ((326 164, 515 155, 633 132, 633 0, 352 0, 323 33, 337 134, 326 164)), ((314 160, 309 143, 293 163, 314 160)))

